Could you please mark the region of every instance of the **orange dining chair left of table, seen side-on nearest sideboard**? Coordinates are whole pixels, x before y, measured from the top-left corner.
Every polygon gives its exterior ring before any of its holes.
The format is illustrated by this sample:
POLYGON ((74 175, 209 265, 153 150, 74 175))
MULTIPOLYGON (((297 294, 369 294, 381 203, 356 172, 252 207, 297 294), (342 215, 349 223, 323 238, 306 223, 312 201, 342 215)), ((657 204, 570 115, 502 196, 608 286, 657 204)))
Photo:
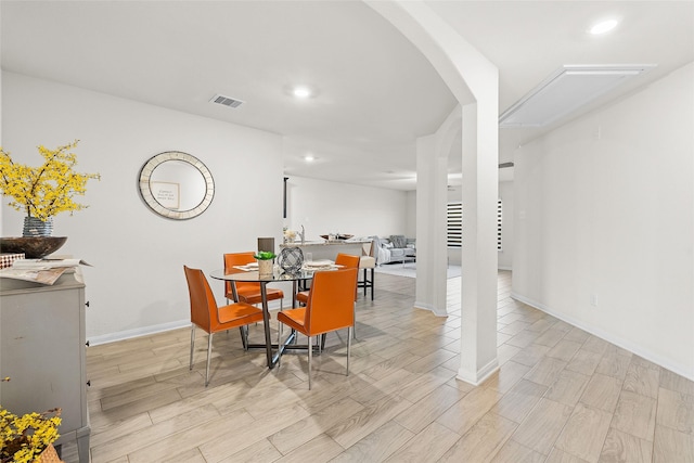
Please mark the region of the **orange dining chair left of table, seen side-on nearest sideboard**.
POLYGON ((202 270, 183 266, 188 292, 191 298, 191 362, 193 370, 193 351, 195 349, 195 326, 207 334, 207 366, 205 368, 205 387, 209 384, 209 360, 213 353, 213 335, 232 327, 241 330, 243 346, 246 348, 248 339, 244 326, 249 323, 262 322, 262 310, 246 303, 235 303, 218 307, 209 283, 202 270))

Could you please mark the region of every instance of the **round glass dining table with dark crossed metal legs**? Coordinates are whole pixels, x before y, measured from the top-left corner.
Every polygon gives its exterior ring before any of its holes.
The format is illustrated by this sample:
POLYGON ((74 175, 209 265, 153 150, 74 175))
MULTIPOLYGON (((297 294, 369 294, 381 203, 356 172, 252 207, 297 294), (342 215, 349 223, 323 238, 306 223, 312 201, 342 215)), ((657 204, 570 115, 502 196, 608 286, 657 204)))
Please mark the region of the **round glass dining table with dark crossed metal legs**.
MULTIPOLYGON (((239 297, 236 295, 235 282, 243 281, 243 282, 260 283, 260 296, 262 299, 262 322, 264 322, 262 324, 265 329, 265 345, 249 344, 247 347, 249 348, 265 347, 267 357, 268 357, 268 368, 270 369, 274 368, 274 365, 277 364, 282 353, 281 350, 283 350, 290 344, 290 342, 293 340, 293 339, 287 339, 287 342, 284 343, 283 346, 272 344, 271 334, 270 334, 270 310, 268 308, 268 293, 267 293, 268 283, 291 281, 293 283, 292 307, 296 307, 296 293, 298 288, 298 283, 311 280, 313 278, 313 273, 319 270, 330 270, 330 268, 325 268, 325 269, 317 268, 317 269, 310 269, 310 270, 301 269, 296 272, 290 273, 290 272, 282 271, 282 269, 275 266, 271 275, 260 275, 258 273, 258 270, 247 270, 246 268, 234 267, 227 270, 215 270, 209 274, 215 280, 229 281, 232 283, 231 288, 232 288, 234 301, 239 301, 239 297), (278 348, 277 352, 273 352, 274 347, 278 348)), ((292 348, 300 348, 300 347, 301 346, 293 346, 292 348)))

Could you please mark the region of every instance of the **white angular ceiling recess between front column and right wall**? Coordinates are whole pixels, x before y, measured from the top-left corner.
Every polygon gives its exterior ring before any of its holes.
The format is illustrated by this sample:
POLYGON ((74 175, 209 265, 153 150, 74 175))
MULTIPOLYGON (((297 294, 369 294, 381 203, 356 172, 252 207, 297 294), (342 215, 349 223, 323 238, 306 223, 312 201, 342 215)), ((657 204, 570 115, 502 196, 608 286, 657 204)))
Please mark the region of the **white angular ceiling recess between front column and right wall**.
POLYGON ((542 127, 655 67, 565 65, 499 117, 499 127, 542 127))

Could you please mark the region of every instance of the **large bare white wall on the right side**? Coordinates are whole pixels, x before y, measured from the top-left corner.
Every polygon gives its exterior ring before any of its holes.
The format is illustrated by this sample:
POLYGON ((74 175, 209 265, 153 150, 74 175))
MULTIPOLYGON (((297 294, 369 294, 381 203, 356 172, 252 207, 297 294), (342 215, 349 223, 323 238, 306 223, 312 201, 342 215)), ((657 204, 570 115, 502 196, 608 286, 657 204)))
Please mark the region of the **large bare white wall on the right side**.
POLYGON ((694 64, 514 156, 513 292, 694 380, 694 64))

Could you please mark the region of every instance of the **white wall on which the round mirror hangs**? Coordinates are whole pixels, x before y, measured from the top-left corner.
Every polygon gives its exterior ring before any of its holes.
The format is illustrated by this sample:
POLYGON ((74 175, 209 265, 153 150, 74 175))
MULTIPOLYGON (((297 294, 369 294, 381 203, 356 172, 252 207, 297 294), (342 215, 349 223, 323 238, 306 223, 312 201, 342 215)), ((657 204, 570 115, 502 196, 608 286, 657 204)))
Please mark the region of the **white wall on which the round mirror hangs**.
MULTIPOLYGON (((189 323, 183 265, 209 272, 223 253, 281 237, 281 137, 12 73, 2 88, 3 146, 15 159, 39 165, 36 145, 78 138, 78 169, 102 176, 88 183, 90 207, 54 223, 68 236, 60 253, 94 266, 83 269, 92 342, 189 323), (216 182, 211 206, 192 220, 162 218, 138 193, 141 166, 169 150, 198 157, 216 182)), ((3 234, 20 235, 23 217, 3 205, 3 234)), ((223 301, 222 284, 210 284, 223 301)))

